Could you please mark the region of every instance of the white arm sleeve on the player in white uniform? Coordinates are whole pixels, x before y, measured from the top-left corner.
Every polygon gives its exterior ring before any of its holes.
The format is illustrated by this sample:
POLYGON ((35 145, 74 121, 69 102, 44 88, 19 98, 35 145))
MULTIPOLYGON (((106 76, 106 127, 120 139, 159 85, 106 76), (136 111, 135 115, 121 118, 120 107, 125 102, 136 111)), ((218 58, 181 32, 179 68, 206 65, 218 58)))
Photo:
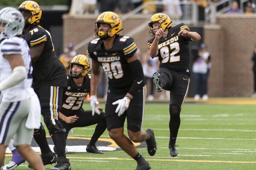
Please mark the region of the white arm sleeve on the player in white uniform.
POLYGON ((0 91, 19 84, 25 78, 26 78, 26 68, 24 66, 15 67, 13 69, 12 74, 0 83, 0 91))

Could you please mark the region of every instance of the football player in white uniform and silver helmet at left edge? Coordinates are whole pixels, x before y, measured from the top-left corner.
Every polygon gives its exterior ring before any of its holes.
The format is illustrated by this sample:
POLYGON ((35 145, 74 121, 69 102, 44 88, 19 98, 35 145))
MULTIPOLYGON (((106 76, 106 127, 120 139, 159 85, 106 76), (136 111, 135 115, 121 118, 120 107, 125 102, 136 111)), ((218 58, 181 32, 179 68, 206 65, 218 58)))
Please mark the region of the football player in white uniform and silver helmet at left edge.
POLYGON ((40 156, 30 146, 33 129, 40 126, 41 116, 38 98, 31 88, 29 47, 23 38, 17 37, 23 29, 21 12, 12 7, 0 10, 0 165, 13 138, 14 146, 33 169, 44 170, 40 156))

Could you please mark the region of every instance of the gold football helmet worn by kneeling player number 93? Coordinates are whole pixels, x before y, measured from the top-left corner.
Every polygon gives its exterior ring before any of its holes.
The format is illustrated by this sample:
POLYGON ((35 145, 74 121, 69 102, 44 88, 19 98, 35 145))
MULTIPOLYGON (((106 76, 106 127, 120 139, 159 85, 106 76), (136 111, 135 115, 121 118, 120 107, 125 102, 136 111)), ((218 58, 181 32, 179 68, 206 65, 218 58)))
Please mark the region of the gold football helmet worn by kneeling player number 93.
POLYGON ((79 78, 82 76, 86 76, 90 70, 90 66, 91 66, 90 61, 85 55, 76 55, 70 62, 69 75, 71 75, 72 78, 79 78), (72 74, 72 67, 74 64, 84 67, 84 69, 79 75, 72 74))

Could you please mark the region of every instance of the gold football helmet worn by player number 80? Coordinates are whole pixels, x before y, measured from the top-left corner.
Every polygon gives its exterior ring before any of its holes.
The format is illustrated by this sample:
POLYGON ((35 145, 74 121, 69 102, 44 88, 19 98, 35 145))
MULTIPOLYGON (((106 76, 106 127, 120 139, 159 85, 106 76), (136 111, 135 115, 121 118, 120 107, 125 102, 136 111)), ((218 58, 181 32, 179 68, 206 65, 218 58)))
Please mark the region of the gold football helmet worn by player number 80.
POLYGON ((119 35, 121 30, 122 20, 118 14, 115 12, 103 12, 96 20, 94 33, 96 37, 106 38, 119 35), (107 30, 106 34, 100 29, 100 24, 109 24, 110 28, 107 30))

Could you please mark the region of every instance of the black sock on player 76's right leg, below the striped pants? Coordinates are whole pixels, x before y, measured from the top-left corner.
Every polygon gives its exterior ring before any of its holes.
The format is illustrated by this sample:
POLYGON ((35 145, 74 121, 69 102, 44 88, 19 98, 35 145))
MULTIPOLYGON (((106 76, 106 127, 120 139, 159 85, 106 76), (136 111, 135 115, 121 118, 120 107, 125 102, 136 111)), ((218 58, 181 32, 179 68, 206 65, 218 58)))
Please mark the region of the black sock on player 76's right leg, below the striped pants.
POLYGON ((54 146, 57 150, 57 155, 59 157, 66 158, 66 146, 65 146, 65 139, 64 139, 64 133, 53 133, 52 135, 54 146))

